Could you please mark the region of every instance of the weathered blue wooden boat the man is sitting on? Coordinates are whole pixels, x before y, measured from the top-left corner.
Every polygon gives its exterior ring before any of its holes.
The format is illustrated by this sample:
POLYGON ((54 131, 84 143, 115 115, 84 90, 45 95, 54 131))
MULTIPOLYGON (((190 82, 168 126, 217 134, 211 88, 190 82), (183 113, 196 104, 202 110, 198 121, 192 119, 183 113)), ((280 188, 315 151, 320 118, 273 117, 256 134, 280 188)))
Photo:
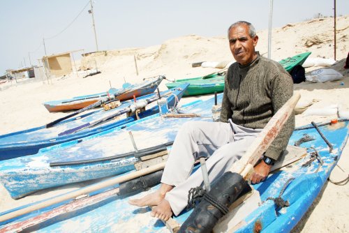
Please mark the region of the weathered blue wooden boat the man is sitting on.
MULTIPOLYGON (((177 120, 181 121, 182 119, 177 120)), ((253 188, 259 192, 262 203, 233 228, 235 232, 254 232, 256 226, 260 227, 260 232, 290 232, 304 216, 341 156, 343 147, 348 140, 349 119, 340 119, 339 123, 336 124, 318 124, 318 128, 332 149, 313 125, 297 128, 292 134, 289 144, 295 144, 304 137, 304 134, 312 137, 313 140, 300 145, 306 148, 306 156, 269 174, 266 181, 253 185, 253 188), (315 153, 317 153, 316 157, 314 157, 315 153), (282 208, 276 206, 273 200, 268 200, 269 197, 281 197, 283 200, 287 200, 290 206, 282 208)), ((158 186, 149 192, 156 190, 156 188, 158 186)), ((80 204, 77 209, 59 213, 54 218, 40 223, 33 223, 29 229, 37 232, 121 232, 130 230, 135 232, 168 232, 160 220, 149 216, 149 208, 138 208, 127 203, 128 199, 137 198, 140 195, 144 195, 144 193, 120 196, 117 195, 116 191, 114 194, 102 197, 101 200, 89 202, 89 199, 94 197, 91 195, 86 200, 81 200, 80 202, 85 204, 80 204)), ((64 204, 73 206, 77 202, 79 201, 64 204)), ((52 208, 54 207, 41 210, 40 214, 45 215, 52 212, 52 208)), ((0 216, 6 213, 0 213, 0 216)), ((184 211, 174 220, 179 224, 184 223, 190 213, 191 211, 184 211)), ((38 212, 13 219, 13 227, 16 224, 17 227, 24 227, 21 223, 24 223, 25 220, 34 220, 34 217, 38 218, 38 212)), ((2 229, 10 230, 11 228, 6 228, 10 225, 9 221, 4 221, 2 229)), ((23 228, 18 229, 23 230, 23 228)))

